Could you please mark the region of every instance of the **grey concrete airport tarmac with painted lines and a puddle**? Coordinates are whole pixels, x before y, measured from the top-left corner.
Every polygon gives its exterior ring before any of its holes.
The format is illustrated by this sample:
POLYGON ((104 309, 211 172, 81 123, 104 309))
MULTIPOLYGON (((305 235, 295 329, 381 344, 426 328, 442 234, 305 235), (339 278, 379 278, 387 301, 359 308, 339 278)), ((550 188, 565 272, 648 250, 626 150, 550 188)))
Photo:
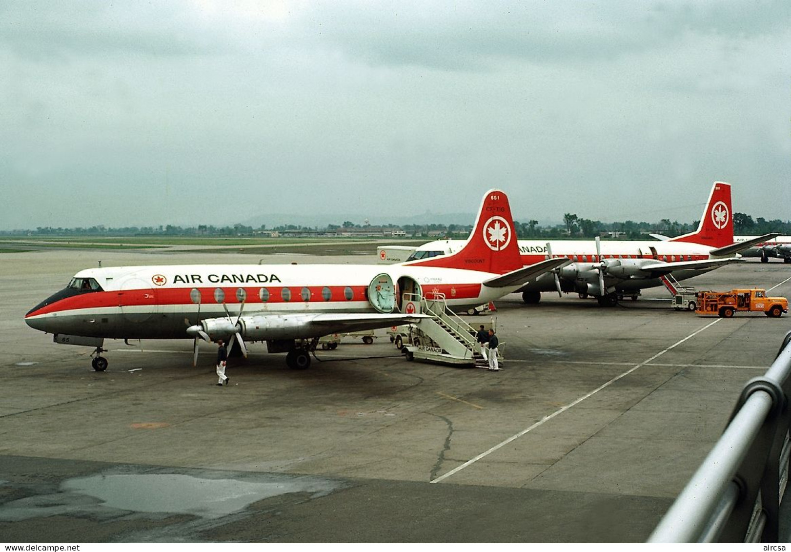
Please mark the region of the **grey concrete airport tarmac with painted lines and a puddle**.
MULTIPOLYGON (((407 362, 378 331, 316 351, 306 371, 253 344, 218 388, 210 344, 193 368, 190 339, 106 342, 98 373, 88 347, 24 323, 97 259, 229 262, 163 257, 2 255, 0 540, 642 542, 791 330, 788 315, 676 312, 664 289, 616 308, 513 295, 495 315, 502 372, 407 362)), ((743 263, 684 283, 789 297, 791 269, 743 263)))

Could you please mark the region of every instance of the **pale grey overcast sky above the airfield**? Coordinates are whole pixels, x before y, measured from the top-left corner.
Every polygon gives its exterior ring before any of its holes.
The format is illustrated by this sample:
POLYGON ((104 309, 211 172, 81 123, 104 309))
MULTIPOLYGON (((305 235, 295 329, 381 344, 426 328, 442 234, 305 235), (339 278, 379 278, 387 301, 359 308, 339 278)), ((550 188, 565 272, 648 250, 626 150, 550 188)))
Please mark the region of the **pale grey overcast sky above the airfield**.
POLYGON ((0 229, 786 221, 789 120, 787 0, 0 2, 0 229))

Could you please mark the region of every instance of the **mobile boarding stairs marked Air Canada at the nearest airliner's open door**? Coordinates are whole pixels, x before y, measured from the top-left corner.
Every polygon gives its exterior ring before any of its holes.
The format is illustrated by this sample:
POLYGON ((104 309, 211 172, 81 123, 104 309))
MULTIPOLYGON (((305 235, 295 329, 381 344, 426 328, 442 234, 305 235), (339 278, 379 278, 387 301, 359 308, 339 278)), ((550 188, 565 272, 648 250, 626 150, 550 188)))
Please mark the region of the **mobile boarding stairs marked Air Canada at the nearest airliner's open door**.
MULTIPOLYGON (((485 354, 489 354, 489 351, 484 353, 473 327, 448 308, 444 295, 433 293, 432 297, 414 297, 414 304, 419 304, 421 313, 429 317, 411 324, 408 340, 411 345, 404 347, 407 360, 488 367, 485 354)), ((502 356, 503 346, 501 342, 498 360, 502 356)))

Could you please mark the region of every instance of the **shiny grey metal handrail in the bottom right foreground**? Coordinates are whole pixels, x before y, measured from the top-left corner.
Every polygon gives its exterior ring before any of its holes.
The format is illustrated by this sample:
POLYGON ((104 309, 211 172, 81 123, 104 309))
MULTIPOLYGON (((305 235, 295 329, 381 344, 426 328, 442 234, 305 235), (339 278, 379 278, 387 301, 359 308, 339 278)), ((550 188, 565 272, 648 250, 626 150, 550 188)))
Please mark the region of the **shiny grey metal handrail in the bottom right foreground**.
POLYGON ((720 440, 664 515, 649 543, 778 542, 789 471, 791 332, 762 378, 747 382, 720 440), (727 530, 727 531, 726 531, 727 530))

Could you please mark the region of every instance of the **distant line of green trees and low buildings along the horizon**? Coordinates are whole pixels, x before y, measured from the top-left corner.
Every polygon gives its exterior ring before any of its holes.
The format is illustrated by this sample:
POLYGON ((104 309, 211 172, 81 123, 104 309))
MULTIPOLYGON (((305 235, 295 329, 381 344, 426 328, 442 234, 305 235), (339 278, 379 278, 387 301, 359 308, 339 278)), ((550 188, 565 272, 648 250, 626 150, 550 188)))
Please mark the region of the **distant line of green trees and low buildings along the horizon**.
MULTIPOLYGON (((698 221, 691 224, 679 221, 671 221, 663 218, 659 222, 602 222, 592 221, 587 218, 578 217, 576 214, 566 213, 563 215, 563 224, 540 226, 538 221, 529 220, 527 222, 514 221, 517 236, 522 238, 593 238, 595 236, 607 236, 608 234, 621 239, 626 238, 636 240, 649 233, 664 234, 665 236, 679 236, 683 233, 694 231, 698 227, 698 221)), ((260 225, 253 228, 249 225, 197 225, 197 226, 123 226, 120 228, 109 228, 104 225, 91 226, 89 228, 62 228, 62 227, 38 227, 35 230, 12 230, 0 232, 6 236, 260 236, 261 234, 278 233, 339 233, 352 229, 370 229, 370 225, 358 225, 352 221, 343 221, 340 225, 327 225, 324 228, 318 226, 302 225, 279 225, 267 229, 267 225, 260 225)), ((448 238, 465 238, 472 230, 471 225, 380 225, 377 229, 384 230, 403 230, 406 236, 421 238, 431 236, 441 236, 448 238)), ((733 232, 737 235, 760 235, 770 232, 779 232, 783 235, 791 235, 791 221, 773 220, 767 221, 763 217, 753 219, 744 213, 733 214, 733 232)))

